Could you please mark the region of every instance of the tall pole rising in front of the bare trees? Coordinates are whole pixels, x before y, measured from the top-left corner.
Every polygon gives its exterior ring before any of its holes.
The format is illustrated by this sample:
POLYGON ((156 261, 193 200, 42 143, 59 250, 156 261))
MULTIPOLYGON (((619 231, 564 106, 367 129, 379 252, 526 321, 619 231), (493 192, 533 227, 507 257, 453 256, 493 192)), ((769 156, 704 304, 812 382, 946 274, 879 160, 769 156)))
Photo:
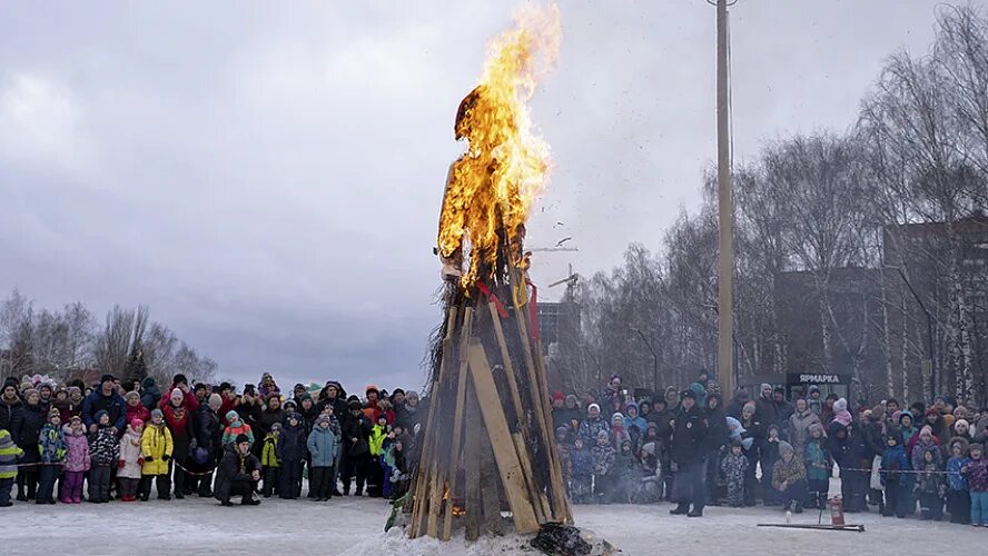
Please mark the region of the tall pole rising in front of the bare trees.
POLYGON ((718 337, 717 377, 721 391, 734 393, 734 242, 731 147, 728 128, 728 0, 717 0, 717 178, 718 178, 718 337))

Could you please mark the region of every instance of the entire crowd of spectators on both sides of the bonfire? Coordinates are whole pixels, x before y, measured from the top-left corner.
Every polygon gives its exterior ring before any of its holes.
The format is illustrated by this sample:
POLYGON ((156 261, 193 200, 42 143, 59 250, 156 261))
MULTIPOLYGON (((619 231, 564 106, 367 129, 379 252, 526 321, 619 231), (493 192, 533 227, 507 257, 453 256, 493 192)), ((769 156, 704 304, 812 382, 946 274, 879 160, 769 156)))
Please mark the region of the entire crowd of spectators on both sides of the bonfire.
MULTIPOLYGON (((416 460, 427 399, 367 386, 347 395, 329 380, 317 393, 283 393, 270 374, 237 391, 229 384, 166 389, 151 377, 55 385, 7 378, 0 391, 0 507, 125 503, 187 496, 224 506, 260 498, 402 497, 416 460), (83 493, 83 486, 86 492, 83 493)), ((896 399, 851 413, 816 386, 761 385, 724 403, 701 374, 689 388, 633 399, 614 375, 583 398, 555 393, 553 427, 576 504, 675 503, 700 517, 707 505, 822 509, 840 477, 847 512, 988 526, 988 410, 937 397, 929 407, 896 399)))

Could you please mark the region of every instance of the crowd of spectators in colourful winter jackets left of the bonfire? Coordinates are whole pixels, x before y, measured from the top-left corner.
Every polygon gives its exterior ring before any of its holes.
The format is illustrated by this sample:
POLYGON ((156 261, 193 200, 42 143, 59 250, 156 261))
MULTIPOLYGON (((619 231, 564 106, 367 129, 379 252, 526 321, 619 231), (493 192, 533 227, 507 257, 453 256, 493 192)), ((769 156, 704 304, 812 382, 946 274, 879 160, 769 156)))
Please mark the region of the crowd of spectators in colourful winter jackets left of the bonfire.
POLYGON ((0 391, 0 507, 215 497, 396 499, 407 490, 424 411, 416 391, 338 381, 283 393, 270 374, 237 391, 176 375, 103 375, 87 386, 7 378, 0 391), (306 480, 307 479, 307 480, 306 480), (83 493, 83 486, 86 493, 83 493))

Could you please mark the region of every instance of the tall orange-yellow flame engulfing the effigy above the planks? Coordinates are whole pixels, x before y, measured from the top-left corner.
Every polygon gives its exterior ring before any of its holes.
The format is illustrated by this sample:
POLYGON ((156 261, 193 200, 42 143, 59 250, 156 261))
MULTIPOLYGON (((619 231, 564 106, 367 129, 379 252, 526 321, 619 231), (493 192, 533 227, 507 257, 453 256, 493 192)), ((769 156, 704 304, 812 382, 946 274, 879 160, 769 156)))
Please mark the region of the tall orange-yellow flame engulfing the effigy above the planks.
POLYGON ((456 139, 467 146, 449 168, 437 245, 447 267, 462 271, 466 262, 467 288, 508 262, 525 264, 525 221, 549 181, 549 145, 532 130, 528 101, 559 54, 559 8, 515 20, 492 41, 481 82, 456 115, 456 139))

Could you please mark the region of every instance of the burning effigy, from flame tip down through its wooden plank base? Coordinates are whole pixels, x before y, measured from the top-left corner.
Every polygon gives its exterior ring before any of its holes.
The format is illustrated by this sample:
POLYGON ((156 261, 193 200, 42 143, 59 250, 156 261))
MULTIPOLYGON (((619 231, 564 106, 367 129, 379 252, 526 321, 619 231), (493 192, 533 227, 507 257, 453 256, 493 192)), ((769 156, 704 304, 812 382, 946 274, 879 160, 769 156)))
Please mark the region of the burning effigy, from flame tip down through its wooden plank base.
POLYGON ((454 133, 436 254, 445 318, 431 358, 431 404, 411 489, 411 537, 535 534, 572 524, 553 443, 543 354, 527 278, 525 222, 550 170, 528 101, 560 44, 555 7, 498 36, 454 133))

